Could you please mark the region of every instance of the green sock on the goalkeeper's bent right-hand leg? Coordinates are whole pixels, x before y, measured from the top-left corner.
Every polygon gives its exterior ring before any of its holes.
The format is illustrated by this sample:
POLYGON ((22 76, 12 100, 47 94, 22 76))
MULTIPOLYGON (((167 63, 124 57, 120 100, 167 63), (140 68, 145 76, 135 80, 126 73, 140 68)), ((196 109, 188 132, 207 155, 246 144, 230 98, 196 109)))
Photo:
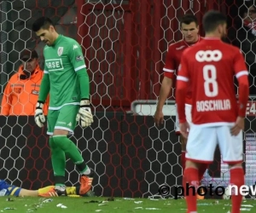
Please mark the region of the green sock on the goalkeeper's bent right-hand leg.
MULTIPOLYGON (((71 158, 74 164, 82 164, 84 159, 82 155, 79 153, 78 147, 75 146, 73 141, 70 141, 65 135, 55 135, 55 145, 60 147, 67 156, 71 158)), ((86 165, 82 170, 84 170, 86 165)))

